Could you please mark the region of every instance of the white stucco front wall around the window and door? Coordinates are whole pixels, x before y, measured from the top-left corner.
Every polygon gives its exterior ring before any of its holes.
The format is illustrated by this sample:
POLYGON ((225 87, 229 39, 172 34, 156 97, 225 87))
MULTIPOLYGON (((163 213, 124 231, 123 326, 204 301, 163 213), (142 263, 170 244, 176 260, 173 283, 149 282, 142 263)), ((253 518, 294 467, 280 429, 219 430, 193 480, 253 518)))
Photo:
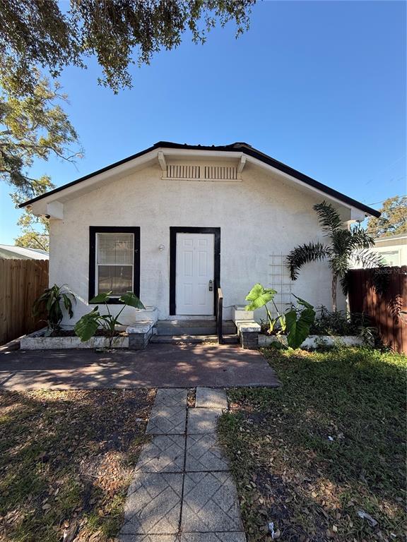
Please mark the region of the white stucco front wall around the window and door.
MULTIPOLYGON (((163 181, 149 167, 64 203, 64 219, 51 220, 51 284, 69 284, 78 296, 73 323, 89 311, 89 226, 141 227, 141 300, 169 315, 170 226, 220 227, 220 280, 225 318, 244 303, 255 282, 269 284, 270 255, 287 254, 297 243, 321 239, 312 205, 322 200, 298 191, 253 165, 242 182, 163 181), (160 251, 158 246, 165 249, 160 251)), ((293 293, 315 306, 331 307, 327 264, 307 265, 293 293)), ((338 290, 341 308, 345 301, 338 290)), ((117 311, 117 306, 110 306, 117 311)), ((123 323, 134 320, 126 309, 123 323)))

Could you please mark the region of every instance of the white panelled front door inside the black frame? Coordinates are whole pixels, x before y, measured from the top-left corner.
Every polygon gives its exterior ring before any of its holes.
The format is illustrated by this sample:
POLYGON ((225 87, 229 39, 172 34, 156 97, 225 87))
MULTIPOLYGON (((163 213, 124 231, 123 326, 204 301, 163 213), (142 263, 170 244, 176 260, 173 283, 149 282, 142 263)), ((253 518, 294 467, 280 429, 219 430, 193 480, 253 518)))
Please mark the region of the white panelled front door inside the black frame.
POLYGON ((213 315, 213 234, 177 234, 177 314, 213 315))

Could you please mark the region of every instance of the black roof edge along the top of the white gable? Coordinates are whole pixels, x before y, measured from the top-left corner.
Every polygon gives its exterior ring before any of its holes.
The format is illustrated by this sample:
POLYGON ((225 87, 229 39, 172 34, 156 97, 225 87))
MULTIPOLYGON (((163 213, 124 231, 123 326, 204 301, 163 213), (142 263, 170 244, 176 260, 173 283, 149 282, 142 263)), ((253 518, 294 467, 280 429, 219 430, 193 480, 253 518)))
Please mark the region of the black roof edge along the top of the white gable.
POLYGON ((290 175, 294 177, 295 179, 298 179, 299 181, 302 181, 308 186, 312 186, 312 188, 317 188, 317 190, 320 190, 327 195, 331 195, 333 198, 336 198, 337 200, 340 200, 343 203, 350 205, 351 207, 356 207, 357 209, 367 212, 369 215, 372 215, 374 217, 380 216, 380 212, 375 209, 372 209, 372 207, 368 207, 364 203, 360 203, 359 201, 354 200, 353 198, 349 198, 348 195, 338 192, 334 190, 334 188, 329 188, 329 186, 326 186, 326 184, 319 183, 319 181, 315 181, 315 179, 312 179, 312 177, 309 177, 301 173, 300 171, 297 171, 296 169, 293 169, 292 167, 287 166, 286 164, 283 164, 283 162, 278 162, 278 160, 271 158, 268 155, 265 155, 264 152, 254 149, 254 147, 252 147, 251 145, 248 145, 247 143, 232 143, 231 145, 209 146, 209 145, 187 145, 187 144, 182 145, 181 143, 172 143, 171 141, 158 141, 158 143, 155 143, 152 147, 148 147, 148 149, 142 150, 141 152, 137 152, 135 155, 131 155, 127 158, 119 160, 119 162, 114 162, 114 164, 110 164, 110 166, 106 166, 106 167, 103 167, 102 169, 98 169, 98 171, 94 171, 93 173, 85 175, 81 177, 80 179, 76 179, 76 181, 72 181, 71 183, 64 184, 64 186, 60 186, 59 188, 54 188, 54 190, 49 191, 45 194, 38 195, 37 198, 33 198, 32 200, 28 200, 28 201, 25 201, 24 203, 21 203, 19 207, 25 207, 26 205, 30 205, 31 203, 34 203, 35 201, 42 200, 43 198, 46 198, 49 195, 58 193, 62 190, 65 190, 65 188, 69 188, 70 186, 75 186, 76 184, 81 183, 82 181, 86 181, 87 179, 90 179, 91 177, 94 177, 101 173, 105 173, 105 171, 109 171, 110 169, 114 169, 117 166, 126 164, 126 162, 130 162, 131 160, 134 160, 135 158, 146 155, 148 152, 151 152, 152 150, 159 149, 159 148, 243 152, 245 155, 256 158, 260 160, 260 162, 264 162, 264 164, 274 167, 278 169, 278 171, 282 171, 283 173, 290 175))

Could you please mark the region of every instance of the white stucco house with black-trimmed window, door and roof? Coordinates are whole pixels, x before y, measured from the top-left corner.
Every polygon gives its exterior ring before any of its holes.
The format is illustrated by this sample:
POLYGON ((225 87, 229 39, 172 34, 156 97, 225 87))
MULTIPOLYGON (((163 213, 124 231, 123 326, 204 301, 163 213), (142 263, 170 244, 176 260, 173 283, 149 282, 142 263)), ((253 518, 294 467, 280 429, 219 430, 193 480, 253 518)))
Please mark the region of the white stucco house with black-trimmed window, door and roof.
MULTIPOLYGON (((218 285, 225 320, 256 282, 278 291, 281 308, 292 294, 330 306, 328 265, 307 265, 291 283, 284 261, 321 238, 312 205, 322 200, 344 227, 379 215, 247 143, 160 141, 21 207, 50 218, 49 283, 76 293, 72 324, 98 292, 113 292, 114 311, 129 289, 160 320, 213 318, 218 285)), ((131 308, 122 315, 136 318, 131 308)))

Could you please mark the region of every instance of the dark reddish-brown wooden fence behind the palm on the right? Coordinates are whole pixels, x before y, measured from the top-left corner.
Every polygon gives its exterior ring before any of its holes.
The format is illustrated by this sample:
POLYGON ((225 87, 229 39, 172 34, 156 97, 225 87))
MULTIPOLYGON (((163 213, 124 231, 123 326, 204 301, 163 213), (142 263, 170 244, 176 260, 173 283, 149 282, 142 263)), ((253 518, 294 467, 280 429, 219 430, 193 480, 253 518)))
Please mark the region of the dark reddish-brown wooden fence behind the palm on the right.
POLYGON ((372 270, 350 271, 350 312, 368 315, 383 343, 407 354, 407 266, 383 267, 375 272, 388 275, 383 294, 374 288, 372 270))

